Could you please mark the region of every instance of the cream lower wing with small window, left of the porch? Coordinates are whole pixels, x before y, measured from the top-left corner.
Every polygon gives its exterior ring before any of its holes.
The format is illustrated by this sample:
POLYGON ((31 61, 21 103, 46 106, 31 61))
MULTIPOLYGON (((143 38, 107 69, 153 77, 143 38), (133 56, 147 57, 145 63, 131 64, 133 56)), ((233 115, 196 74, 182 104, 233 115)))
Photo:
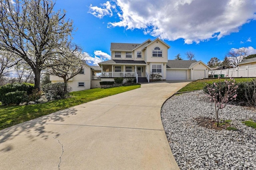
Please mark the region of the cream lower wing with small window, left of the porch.
MULTIPOLYGON (((72 87, 72 91, 86 90, 90 88, 100 88, 100 76, 97 73, 101 72, 100 66, 89 66, 84 63, 82 71, 68 80, 68 86, 72 87)), ((63 78, 50 75, 51 83, 64 82, 63 78)))

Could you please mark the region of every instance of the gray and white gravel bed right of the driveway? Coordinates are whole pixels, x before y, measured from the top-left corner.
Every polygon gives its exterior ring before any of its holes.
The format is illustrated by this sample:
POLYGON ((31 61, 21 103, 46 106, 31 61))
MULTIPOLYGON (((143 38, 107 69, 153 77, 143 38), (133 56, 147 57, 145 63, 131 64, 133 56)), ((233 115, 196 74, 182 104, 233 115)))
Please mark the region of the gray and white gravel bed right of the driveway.
POLYGON ((227 105, 219 118, 231 120, 228 131, 199 125, 198 117, 215 119, 214 103, 202 92, 172 96, 162 106, 164 130, 181 170, 256 169, 256 129, 242 123, 256 120, 256 110, 227 105))

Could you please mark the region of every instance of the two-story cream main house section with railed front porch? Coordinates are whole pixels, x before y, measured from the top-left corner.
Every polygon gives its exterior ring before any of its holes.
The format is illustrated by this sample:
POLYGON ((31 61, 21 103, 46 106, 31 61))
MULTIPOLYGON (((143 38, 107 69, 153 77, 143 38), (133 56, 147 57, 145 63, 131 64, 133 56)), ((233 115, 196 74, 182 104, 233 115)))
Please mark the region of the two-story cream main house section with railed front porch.
POLYGON ((111 60, 98 63, 101 67, 102 81, 113 81, 114 77, 135 77, 137 82, 156 73, 166 79, 166 64, 170 46, 156 38, 141 44, 111 43, 111 60), (142 78, 142 79, 140 79, 142 78))

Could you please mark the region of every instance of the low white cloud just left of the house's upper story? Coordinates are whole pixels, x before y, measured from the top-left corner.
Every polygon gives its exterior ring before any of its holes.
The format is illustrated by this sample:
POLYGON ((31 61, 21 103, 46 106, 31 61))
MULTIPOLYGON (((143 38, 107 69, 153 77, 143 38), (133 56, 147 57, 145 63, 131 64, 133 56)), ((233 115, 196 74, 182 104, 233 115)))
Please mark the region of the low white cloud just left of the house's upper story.
POLYGON ((111 59, 110 55, 99 50, 94 51, 94 57, 86 52, 83 53, 83 56, 83 60, 85 60, 88 65, 94 66, 98 66, 98 63, 111 59))

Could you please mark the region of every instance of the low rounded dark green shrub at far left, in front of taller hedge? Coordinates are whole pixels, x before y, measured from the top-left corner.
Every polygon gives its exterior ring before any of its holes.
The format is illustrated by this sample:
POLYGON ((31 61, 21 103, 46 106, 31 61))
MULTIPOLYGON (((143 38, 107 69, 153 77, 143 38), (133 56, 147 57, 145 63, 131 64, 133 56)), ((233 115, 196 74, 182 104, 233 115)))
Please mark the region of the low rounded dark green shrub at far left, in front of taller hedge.
POLYGON ((2 104, 4 105, 19 104, 21 102, 27 102, 28 100, 28 95, 25 91, 9 92, 4 96, 5 100, 2 100, 2 104))

